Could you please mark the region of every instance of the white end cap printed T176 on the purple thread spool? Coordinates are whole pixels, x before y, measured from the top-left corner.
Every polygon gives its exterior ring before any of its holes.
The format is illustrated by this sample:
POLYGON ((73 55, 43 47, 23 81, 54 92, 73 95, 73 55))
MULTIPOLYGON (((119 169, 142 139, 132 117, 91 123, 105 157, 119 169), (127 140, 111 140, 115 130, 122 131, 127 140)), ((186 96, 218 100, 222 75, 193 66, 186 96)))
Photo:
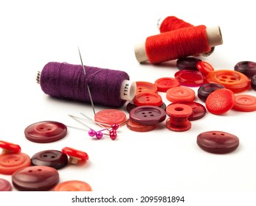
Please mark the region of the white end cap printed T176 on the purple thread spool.
POLYGON ((136 82, 124 80, 120 89, 120 99, 132 101, 136 95, 136 82))

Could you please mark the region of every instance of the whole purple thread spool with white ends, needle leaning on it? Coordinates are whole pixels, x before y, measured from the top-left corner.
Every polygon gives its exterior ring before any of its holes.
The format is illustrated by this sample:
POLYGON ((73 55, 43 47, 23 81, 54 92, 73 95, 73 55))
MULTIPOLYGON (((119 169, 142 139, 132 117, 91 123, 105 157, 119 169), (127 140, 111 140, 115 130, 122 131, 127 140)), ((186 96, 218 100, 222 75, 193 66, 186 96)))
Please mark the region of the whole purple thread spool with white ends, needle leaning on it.
POLYGON ((134 99, 136 82, 131 82, 125 71, 69 63, 47 63, 38 72, 37 81, 49 96, 90 102, 88 86, 94 104, 122 107, 134 99))

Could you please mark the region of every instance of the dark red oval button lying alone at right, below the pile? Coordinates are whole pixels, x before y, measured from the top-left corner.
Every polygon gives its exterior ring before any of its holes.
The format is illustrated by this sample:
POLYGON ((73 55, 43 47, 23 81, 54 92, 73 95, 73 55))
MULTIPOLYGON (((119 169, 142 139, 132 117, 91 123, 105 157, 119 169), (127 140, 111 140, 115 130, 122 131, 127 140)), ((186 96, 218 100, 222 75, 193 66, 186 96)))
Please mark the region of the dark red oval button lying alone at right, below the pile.
POLYGON ((209 131, 197 136, 197 144, 207 152, 225 154, 238 148, 239 139, 228 132, 209 131))

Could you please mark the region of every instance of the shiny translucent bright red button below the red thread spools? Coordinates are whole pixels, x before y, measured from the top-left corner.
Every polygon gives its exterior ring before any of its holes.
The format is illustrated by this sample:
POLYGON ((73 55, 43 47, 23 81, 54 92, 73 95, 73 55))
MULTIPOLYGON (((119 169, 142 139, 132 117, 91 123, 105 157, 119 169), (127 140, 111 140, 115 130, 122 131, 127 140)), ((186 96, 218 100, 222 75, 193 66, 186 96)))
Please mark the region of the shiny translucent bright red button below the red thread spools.
POLYGON ((200 71, 194 70, 182 70, 177 71, 174 74, 175 79, 177 79, 181 85, 187 87, 198 87, 205 83, 205 77, 200 71))

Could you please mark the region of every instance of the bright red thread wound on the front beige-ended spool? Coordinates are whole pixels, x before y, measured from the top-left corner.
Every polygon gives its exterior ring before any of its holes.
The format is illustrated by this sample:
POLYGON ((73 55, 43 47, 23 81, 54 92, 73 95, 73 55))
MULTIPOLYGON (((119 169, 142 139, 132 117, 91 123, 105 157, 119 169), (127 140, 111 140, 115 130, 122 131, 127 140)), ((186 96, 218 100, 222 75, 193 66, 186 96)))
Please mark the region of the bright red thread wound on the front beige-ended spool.
POLYGON ((145 51, 151 63, 161 63, 210 51, 206 26, 190 26, 148 37, 145 51))

